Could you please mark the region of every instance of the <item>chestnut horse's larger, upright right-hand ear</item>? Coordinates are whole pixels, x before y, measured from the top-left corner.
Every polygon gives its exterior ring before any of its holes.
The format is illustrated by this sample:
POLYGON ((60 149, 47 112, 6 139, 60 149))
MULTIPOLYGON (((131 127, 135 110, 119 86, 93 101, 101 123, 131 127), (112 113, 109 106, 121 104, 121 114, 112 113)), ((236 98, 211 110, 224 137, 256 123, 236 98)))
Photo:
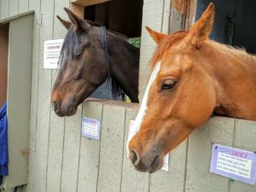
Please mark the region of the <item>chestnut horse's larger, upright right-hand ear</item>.
POLYGON ((201 18, 195 22, 195 25, 189 30, 187 38, 191 44, 198 46, 205 41, 212 32, 214 20, 214 5, 210 3, 207 10, 201 15, 201 18))

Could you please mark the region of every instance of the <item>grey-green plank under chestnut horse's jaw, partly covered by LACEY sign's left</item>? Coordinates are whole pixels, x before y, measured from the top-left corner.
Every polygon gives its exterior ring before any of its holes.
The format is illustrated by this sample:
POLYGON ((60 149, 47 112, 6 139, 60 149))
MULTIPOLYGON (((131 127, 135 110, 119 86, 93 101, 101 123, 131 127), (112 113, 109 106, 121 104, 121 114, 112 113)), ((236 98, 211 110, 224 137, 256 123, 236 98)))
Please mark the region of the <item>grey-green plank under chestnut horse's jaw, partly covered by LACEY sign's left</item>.
POLYGON ((232 146, 235 119, 214 117, 189 137, 185 191, 228 192, 229 179, 210 173, 212 143, 232 146))

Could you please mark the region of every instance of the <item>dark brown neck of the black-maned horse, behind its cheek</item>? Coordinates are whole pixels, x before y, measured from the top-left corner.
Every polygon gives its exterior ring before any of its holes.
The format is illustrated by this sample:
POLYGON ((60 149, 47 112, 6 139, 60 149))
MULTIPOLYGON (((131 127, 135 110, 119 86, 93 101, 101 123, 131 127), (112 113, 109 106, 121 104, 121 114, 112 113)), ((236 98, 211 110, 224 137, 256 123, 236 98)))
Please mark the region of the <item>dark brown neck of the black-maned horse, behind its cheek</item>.
POLYGON ((138 102, 139 49, 108 32, 109 73, 132 102, 138 102))

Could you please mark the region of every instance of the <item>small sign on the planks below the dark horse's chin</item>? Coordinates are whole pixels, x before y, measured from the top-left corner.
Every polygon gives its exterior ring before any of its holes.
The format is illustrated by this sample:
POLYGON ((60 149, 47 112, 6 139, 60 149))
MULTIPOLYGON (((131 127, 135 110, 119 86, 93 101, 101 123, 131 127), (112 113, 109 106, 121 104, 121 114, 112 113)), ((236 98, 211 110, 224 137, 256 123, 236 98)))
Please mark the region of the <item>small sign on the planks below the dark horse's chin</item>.
POLYGON ((97 119, 83 117, 82 119, 82 136, 92 139, 100 139, 101 122, 97 119))

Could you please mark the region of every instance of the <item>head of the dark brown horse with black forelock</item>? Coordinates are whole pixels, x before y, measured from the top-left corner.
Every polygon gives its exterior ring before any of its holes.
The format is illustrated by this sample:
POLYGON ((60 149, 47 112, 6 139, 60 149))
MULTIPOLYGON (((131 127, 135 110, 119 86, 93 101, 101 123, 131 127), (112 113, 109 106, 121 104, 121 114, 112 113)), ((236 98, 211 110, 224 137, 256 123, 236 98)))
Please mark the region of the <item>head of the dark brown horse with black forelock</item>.
POLYGON ((62 20, 67 35, 61 48, 60 69, 51 101, 55 113, 70 116, 78 105, 108 77, 106 29, 96 27, 65 9, 71 22, 62 20))

